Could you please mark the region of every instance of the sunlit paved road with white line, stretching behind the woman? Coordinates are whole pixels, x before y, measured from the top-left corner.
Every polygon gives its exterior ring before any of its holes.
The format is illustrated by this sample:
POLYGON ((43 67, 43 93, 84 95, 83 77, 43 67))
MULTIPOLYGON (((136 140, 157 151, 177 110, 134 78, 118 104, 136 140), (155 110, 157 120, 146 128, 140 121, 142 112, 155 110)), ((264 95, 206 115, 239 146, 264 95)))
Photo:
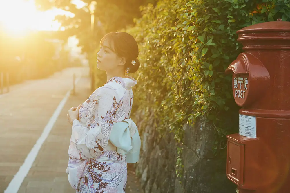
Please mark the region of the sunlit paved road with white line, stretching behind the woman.
MULTIPOLYGON (((75 192, 65 172, 71 134, 66 114, 91 93, 88 68, 76 67, 0 95, 0 192, 75 192), (78 80, 75 95, 69 93, 73 73, 78 80)), ((141 192, 133 172, 128 175, 126 192, 141 192)))

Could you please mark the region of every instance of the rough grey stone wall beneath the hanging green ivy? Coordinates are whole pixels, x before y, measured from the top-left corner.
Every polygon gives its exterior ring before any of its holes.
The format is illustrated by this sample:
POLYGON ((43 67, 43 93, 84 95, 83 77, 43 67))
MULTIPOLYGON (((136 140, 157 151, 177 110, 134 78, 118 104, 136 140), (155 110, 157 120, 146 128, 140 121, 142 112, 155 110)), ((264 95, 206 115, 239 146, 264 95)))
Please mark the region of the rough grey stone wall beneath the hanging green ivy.
POLYGON ((138 123, 146 124, 140 134, 142 147, 136 167, 145 193, 235 193, 235 185, 226 179, 226 149, 223 155, 215 157, 211 151, 215 130, 203 118, 194 127, 183 127, 181 183, 175 174, 177 146, 173 133, 160 138, 154 122, 138 123))

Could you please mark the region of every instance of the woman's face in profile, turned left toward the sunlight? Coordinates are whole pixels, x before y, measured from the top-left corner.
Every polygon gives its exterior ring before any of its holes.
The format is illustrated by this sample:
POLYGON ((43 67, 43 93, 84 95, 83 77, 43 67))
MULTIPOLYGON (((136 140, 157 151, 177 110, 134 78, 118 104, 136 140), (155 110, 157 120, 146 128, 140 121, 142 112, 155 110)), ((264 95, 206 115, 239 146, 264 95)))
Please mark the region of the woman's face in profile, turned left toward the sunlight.
POLYGON ((120 70, 123 65, 123 58, 117 56, 117 54, 109 45, 108 39, 106 39, 101 45, 100 51, 97 53, 97 68, 100 70, 105 70, 107 72, 112 72, 120 70))

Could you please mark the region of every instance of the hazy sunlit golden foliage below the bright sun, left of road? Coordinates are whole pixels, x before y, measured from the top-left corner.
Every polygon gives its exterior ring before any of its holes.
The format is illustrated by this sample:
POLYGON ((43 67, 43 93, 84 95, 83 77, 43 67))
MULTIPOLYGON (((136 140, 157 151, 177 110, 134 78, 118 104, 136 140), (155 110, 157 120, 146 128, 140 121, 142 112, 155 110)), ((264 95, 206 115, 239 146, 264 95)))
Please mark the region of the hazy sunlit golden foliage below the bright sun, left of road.
MULTIPOLYGON (((45 78, 74 64, 69 63, 69 52, 58 31, 34 31, 15 36, 0 26, 0 73, 6 86, 24 80, 45 78)), ((1 81, 1 80, 0 80, 1 81)))

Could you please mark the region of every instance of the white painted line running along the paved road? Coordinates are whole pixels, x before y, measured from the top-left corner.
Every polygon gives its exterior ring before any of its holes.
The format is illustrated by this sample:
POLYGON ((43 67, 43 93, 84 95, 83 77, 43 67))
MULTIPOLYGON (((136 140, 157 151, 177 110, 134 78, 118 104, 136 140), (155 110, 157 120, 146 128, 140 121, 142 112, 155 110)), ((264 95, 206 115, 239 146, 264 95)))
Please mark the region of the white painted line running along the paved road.
MULTIPOLYGON (((77 84, 79 79, 80 78, 78 78, 75 81, 75 84, 77 84)), ((68 97, 70 96, 71 91, 72 90, 70 90, 66 93, 66 96, 61 100, 61 102, 59 103, 59 105, 55 109, 55 112, 53 113, 52 117, 50 118, 50 120, 46 124, 41 136, 37 139, 36 144, 33 146, 31 151, 27 155, 24 163, 19 168, 18 172, 15 174, 15 176, 13 177, 11 182, 9 183, 9 185, 6 188, 6 190, 4 191, 4 193, 17 193, 18 192, 18 190, 19 190, 24 178, 28 174, 42 144, 44 143, 44 141, 48 137, 50 130, 52 129, 53 125, 55 124, 57 117, 59 116, 61 110, 64 108, 64 104, 66 104, 66 101, 68 100, 68 97)))

